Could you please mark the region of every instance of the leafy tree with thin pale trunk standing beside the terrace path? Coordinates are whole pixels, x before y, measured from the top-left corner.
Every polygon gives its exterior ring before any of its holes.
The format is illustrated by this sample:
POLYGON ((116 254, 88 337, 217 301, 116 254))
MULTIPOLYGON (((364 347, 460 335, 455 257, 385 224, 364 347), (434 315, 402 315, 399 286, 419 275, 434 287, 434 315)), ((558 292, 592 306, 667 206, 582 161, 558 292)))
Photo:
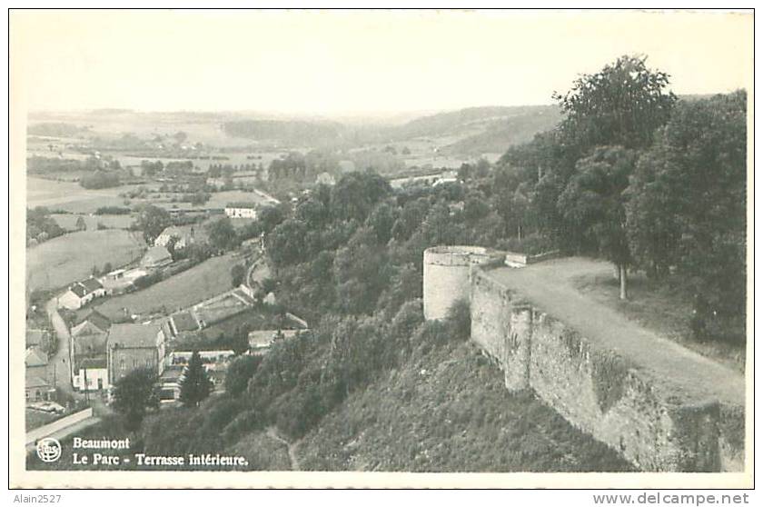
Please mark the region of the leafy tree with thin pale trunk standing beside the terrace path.
POLYGON ((570 227, 618 269, 620 299, 628 297, 630 259, 625 190, 636 154, 620 146, 597 148, 580 159, 560 195, 559 208, 570 227))

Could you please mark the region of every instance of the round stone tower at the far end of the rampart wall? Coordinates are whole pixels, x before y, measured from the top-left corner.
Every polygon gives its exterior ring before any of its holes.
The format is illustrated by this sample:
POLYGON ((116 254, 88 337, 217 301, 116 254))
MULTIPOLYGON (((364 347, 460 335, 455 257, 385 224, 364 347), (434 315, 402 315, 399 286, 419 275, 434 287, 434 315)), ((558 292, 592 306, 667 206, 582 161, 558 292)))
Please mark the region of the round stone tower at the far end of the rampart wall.
POLYGON ((470 267, 490 259, 481 246, 433 246, 424 251, 424 318, 441 319, 451 304, 469 299, 470 267))

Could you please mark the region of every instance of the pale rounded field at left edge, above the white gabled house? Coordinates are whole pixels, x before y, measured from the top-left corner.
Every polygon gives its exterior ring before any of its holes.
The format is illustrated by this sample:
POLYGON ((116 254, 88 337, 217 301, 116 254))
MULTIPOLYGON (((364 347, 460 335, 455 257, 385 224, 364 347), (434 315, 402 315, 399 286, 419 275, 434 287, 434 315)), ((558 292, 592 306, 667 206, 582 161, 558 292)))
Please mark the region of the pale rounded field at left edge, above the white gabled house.
POLYGON ((93 266, 131 263, 144 247, 140 234, 118 229, 64 234, 26 249, 27 284, 30 290, 64 287, 90 276, 93 266))

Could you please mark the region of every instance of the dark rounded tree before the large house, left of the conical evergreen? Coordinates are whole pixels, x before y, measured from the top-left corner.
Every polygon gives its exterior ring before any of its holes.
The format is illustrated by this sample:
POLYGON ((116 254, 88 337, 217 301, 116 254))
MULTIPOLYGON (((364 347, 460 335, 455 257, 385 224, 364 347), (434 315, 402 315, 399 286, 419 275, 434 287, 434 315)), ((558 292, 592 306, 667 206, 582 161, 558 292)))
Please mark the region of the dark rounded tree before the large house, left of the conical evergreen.
POLYGON ((124 426, 137 430, 148 409, 159 407, 156 375, 148 369, 127 373, 114 385, 114 410, 124 417, 124 426))

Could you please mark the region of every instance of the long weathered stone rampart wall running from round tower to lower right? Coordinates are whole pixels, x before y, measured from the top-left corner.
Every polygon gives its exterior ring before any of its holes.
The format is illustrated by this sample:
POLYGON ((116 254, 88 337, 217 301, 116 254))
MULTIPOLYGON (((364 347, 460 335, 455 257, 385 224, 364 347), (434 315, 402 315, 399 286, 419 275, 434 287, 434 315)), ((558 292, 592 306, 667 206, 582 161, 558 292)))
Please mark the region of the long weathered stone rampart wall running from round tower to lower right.
POLYGON ((471 339, 512 391, 532 389, 567 421, 652 472, 743 470, 744 410, 686 402, 617 353, 530 306, 476 268, 471 339))

